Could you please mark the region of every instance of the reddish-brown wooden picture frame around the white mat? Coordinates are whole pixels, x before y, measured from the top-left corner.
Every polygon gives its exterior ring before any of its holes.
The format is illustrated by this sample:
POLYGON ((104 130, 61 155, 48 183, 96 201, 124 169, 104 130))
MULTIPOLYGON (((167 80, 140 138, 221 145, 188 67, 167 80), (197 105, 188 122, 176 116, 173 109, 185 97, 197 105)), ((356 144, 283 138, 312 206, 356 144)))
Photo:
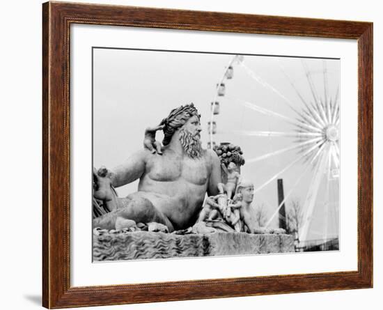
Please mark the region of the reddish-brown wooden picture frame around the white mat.
POLYGON ((42 5, 42 305, 49 309, 373 286, 373 24, 191 10, 42 5), (70 25, 100 24, 356 39, 358 270, 116 286, 70 286, 70 25))

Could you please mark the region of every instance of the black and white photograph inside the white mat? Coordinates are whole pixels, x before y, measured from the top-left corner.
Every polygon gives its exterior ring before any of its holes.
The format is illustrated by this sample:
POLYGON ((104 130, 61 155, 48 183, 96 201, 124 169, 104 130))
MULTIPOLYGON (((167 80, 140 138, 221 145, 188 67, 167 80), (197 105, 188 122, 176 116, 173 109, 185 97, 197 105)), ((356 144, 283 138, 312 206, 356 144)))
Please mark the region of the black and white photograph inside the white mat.
POLYGON ((340 59, 92 57, 93 262, 339 250, 340 59))

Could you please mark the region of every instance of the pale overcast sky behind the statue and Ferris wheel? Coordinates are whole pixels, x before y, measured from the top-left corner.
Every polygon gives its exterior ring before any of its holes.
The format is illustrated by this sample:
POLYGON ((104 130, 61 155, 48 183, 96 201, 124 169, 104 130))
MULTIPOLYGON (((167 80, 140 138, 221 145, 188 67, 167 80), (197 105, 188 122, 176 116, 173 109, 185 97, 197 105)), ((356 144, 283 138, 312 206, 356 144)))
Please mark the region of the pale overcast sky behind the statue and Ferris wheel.
MULTIPOLYGON (((136 51, 129 49, 93 49, 93 165, 113 168, 122 163, 134 151, 143 148, 143 133, 146 127, 157 125, 171 109, 180 104, 194 102, 201 113, 203 132, 201 139, 206 147, 210 102, 215 85, 221 79, 225 67, 233 58, 228 54, 201 54, 188 52, 136 51)), ((334 98, 339 83, 339 60, 305 59, 311 72, 315 88, 324 93, 323 62, 327 67, 329 97, 334 98)), ((297 85, 305 100, 313 96, 305 75, 302 59, 276 56, 244 56, 244 64, 267 84, 288 98, 294 107, 302 109, 302 101, 283 75, 285 70, 297 85)), ((256 82, 240 65, 234 65, 234 77, 225 82, 226 95, 219 98, 221 112, 217 121, 214 141, 231 142, 241 146, 245 160, 265 155, 274 150, 292 146, 296 139, 286 137, 249 137, 235 131, 292 132, 289 123, 266 116, 240 102, 247 101, 259 107, 275 111, 283 116, 295 118, 288 104, 270 88, 256 82)), ((162 134, 157 133, 162 141, 162 134)), ((297 158, 297 150, 276 155, 267 160, 242 166, 242 176, 258 187, 281 171, 297 158)), ((281 173, 284 192, 287 194, 295 180, 306 168, 299 161, 281 173)), ((313 170, 308 169, 295 187, 292 199, 304 202, 313 170)), ((136 192, 137 182, 118 188, 120 196, 136 192)), ((324 224, 324 204, 329 205, 329 235, 338 234, 338 183, 331 181, 327 198, 327 183, 322 183, 315 206, 315 222, 310 238, 321 238, 324 224)), ((288 199, 287 205, 291 199, 288 199)), ((254 204, 263 204, 270 216, 278 206, 276 180, 265 186, 255 196, 254 204)), ((288 207, 288 206, 287 206, 288 207)), ((276 226, 277 222, 273 222, 276 226)))

